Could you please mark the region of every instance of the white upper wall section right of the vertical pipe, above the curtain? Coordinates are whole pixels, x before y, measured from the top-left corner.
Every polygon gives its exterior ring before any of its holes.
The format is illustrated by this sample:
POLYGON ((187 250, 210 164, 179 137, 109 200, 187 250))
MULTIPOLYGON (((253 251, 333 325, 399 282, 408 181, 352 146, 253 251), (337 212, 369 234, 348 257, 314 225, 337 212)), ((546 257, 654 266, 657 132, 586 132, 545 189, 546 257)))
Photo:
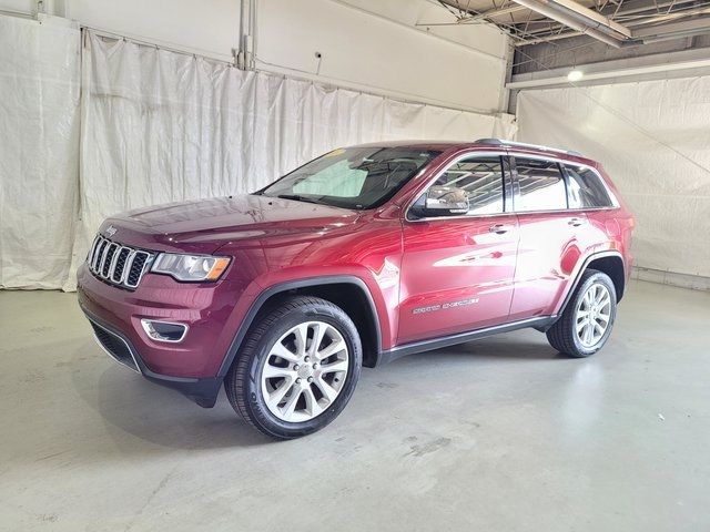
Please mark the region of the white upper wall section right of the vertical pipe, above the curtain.
MULTIPOLYGON (((418 2, 410 6, 417 8, 418 2)), ((355 89, 384 89, 438 105, 496 112, 505 105, 505 38, 487 29, 480 33, 481 49, 475 50, 344 2, 270 0, 258 3, 257 66, 355 89), (315 52, 322 53, 321 60, 315 52)))

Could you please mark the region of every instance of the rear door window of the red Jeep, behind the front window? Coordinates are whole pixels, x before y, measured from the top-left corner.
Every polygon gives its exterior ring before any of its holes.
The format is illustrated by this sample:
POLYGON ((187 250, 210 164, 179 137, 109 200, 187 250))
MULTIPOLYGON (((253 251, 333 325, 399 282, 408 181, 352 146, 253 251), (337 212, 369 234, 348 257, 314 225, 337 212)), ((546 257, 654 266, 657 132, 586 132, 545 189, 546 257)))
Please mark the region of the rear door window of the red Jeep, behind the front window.
POLYGON ((515 157, 515 166, 520 191, 515 205, 517 212, 567 208, 567 188, 557 163, 515 157))

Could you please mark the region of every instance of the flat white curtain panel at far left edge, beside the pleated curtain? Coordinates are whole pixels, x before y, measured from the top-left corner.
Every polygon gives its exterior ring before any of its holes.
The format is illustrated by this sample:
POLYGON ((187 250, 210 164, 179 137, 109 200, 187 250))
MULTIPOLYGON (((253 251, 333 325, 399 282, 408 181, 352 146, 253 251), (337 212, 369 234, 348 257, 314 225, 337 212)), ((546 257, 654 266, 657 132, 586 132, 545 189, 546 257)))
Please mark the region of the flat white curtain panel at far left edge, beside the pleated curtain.
POLYGON ((58 288, 79 167, 78 29, 0 17, 0 288, 58 288))

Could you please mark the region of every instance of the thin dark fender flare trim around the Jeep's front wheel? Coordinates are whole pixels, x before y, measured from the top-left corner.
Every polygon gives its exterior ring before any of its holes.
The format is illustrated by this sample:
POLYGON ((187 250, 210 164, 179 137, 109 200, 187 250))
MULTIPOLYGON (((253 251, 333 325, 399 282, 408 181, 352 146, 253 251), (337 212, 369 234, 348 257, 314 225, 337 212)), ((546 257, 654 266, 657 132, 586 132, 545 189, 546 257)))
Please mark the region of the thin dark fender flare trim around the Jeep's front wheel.
POLYGON ((223 379, 230 368, 232 367, 232 362, 236 358, 236 355, 246 337, 246 332, 250 327, 254 323, 256 315, 263 308, 264 304, 273 296, 277 294, 283 294, 288 290, 294 290, 298 288, 307 288, 311 286, 323 286, 323 285, 339 285, 339 284, 348 284, 356 286, 365 296, 365 300, 369 306, 369 315, 373 321, 373 330, 375 331, 375 340, 376 340, 376 350, 377 357, 382 352, 382 331, 379 327, 379 316, 377 314, 377 308, 375 307, 375 300, 373 298, 369 288, 365 284, 363 279, 355 275, 327 275, 322 277, 306 277, 303 279, 288 280, 285 283, 278 283, 276 285, 270 286, 264 289, 252 303, 252 306, 246 313, 246 316, 240 324, 232 342, 230 344, 230 348, 227 349, 224 359, 222 360, 222 365, 220 366, 220 371, 217 372, 217 378, 223 379))

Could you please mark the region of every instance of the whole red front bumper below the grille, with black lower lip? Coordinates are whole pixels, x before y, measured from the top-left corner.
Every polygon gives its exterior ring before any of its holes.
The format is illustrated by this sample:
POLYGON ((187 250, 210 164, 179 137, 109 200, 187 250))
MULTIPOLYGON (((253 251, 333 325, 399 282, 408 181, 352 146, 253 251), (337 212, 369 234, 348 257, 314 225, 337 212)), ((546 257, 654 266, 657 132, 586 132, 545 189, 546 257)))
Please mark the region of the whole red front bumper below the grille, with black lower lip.
POLYGON ((112 358, 200 406, 214 406, 224 378, 220 368, 245 304, 240 283, 185 284, 146 274, 131 291, 100 280, 85 264, 77 277, 79 305, 112 358), (155 341, 142 318, 184 324, 189 334, 180 342, 155 341))

